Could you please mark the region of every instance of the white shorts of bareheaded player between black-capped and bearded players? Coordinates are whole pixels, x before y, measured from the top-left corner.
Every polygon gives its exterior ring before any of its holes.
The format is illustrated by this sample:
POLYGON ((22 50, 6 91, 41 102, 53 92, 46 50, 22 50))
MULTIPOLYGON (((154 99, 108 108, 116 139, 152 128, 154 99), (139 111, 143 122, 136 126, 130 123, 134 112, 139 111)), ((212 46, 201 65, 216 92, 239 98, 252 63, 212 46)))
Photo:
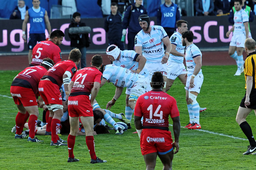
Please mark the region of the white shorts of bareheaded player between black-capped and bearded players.
POLYGON ((170 62, 167 63, 167 78, 175 80, 180 74, 186 74, 187 70, 183 63, 170 62))

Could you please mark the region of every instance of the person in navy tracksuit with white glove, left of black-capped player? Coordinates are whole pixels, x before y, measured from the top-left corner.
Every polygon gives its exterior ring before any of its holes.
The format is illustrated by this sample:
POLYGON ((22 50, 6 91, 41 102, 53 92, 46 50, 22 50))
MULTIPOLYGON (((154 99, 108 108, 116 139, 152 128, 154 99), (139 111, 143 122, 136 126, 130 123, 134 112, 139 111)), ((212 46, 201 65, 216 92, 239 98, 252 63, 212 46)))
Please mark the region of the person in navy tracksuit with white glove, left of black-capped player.
POLYGON ((140 15, 147 14, 146 8, 142 5, 142 0, 136 0, 135 4, 127 7, 123 18, 123 35, 126 35, 126 28, 128 27, 128 50, 134 49, 134 39, 138 32, 140 32, 141 27, 138 23, 138 18, 140 15))

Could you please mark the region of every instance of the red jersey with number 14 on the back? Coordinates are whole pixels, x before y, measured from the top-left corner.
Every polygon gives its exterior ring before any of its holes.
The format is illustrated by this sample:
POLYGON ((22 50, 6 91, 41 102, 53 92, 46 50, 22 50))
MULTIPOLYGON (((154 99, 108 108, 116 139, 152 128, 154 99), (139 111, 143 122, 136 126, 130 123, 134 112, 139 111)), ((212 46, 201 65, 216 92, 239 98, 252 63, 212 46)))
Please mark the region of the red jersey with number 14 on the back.
POLYGON ((158 90, 151 90, 141 95, 134 109, 134 116, 143 116, 143 129, 169 130, 169 115, 180 116, 176 100, 158 90))

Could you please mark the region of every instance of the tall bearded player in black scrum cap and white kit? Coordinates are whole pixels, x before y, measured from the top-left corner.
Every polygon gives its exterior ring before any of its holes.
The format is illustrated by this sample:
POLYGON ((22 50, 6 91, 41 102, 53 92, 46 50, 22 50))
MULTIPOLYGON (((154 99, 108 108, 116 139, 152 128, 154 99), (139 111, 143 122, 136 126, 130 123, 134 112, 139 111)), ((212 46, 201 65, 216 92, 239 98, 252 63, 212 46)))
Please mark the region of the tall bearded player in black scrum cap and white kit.
MULTIPOLYGON (((150 25, 148 15, 140 15, 139 24, 142 30, 135 36, 135 51, 146 57, 145 67, 151 74, 150 76, 159 71, 163 74, 164 84, 166 84, 166 63, 172 50, 169 37, 162 26, 150 25), (166 46, 165 53, 164 45, 166 46)), ((163 91, 166 92, 165 86, 163 91)))

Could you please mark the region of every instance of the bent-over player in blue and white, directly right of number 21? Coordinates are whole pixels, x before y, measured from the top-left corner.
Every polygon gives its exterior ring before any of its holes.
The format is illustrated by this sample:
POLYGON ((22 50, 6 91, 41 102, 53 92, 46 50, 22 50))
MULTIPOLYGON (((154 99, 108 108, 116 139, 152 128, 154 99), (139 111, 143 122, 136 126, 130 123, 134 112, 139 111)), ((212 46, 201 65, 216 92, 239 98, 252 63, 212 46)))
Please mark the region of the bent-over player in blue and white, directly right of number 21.
POLYGON ((131 89, 128 103, 133 111, 138 97, 151 90, 150 81, 145 76, 133 74, 132 70, 118 67, 113 64, 103 66, 103 77, 100 87, 102 87, 108 80, 116 86, 116 92, 113 99, 107 103, 106 109, 110 109, 116 103, 116 100, 121 96, 124 87, 131 89))

